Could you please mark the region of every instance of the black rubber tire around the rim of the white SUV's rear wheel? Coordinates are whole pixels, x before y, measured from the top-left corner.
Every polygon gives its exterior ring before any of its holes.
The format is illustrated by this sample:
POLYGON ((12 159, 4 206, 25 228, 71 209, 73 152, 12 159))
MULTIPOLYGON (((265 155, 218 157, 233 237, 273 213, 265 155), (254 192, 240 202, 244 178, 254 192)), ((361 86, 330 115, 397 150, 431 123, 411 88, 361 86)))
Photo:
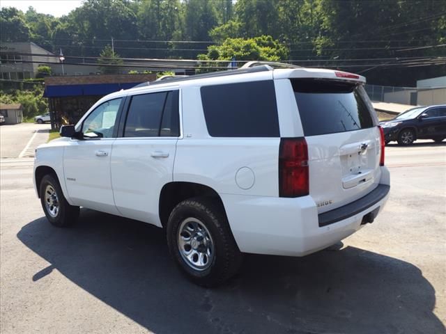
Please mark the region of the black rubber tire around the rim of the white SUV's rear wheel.
MULTIPOLYGON (((197 234, 197 232, 189 233, 190 240, 194 239, 192 234, 197 234)), ((217 200, 213 200, 212 198, 191 198, 184 200, 172 210, 167 223, 167 244, 169 245, 171 256, 174 257, 176 264, 178 264, 178 267, 180 267, 183 273, 192 282, 203 287, 222 285, 222 283, 238 273, 238 269, 240 269, 243 260, 243 255, 240 253, 229 228, 224 208, 217 200), (204 225, 204 229, 202 228, 202 230, 197 231, 201 232, 206 230, 204 231, 205 233, 209 232, 210 244, 213 245, 213 256, 212 258, 208 258, 209 262, 206 262, 205 267, 201 269, 192 267, 195 265, 193 261, 194 255, 189 261, 185 260, 186 255, 182 255, 182 250, 186 251, 186 245, 182 248, 178 244, 180 228, 187 225, 187 221, 190 220, 193 223, 198 221, 204 225)), ((192 241, 190 245, 192 245, 192 241)), ((203 244, 195 246, 200 247, 203 244)), ((206 246, 203 247, 206 248, 206 246)), ((199 248, 195 249, 191 246, 190 254, 194 251, 197 253, 200 250, 199 248)), ((202 254, 203 258, 206 257, 206 251, 203 251, 202 254)), ((196 263, 198 266, 198 260, 196 263)))

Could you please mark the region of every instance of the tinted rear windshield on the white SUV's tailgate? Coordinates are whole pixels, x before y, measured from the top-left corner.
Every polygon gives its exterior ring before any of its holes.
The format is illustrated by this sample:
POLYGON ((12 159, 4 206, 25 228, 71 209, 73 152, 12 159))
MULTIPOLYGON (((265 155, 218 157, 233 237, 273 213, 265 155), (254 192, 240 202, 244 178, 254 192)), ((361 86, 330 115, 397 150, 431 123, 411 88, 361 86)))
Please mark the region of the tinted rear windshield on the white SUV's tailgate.
POLYGON ((361 85, 321 79, 291 79, 305 136, 367 129, 376 124, 361 85))

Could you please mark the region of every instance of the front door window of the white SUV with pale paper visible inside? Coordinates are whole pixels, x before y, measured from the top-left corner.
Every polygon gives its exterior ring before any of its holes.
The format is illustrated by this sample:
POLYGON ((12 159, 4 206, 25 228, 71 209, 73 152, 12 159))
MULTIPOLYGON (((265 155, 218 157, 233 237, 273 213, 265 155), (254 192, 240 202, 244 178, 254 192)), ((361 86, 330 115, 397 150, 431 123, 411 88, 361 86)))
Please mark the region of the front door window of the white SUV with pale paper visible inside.
POLYGON ((112 138, 121 98, 102 103, 84 120, 82 133, 86 138, 112 138))

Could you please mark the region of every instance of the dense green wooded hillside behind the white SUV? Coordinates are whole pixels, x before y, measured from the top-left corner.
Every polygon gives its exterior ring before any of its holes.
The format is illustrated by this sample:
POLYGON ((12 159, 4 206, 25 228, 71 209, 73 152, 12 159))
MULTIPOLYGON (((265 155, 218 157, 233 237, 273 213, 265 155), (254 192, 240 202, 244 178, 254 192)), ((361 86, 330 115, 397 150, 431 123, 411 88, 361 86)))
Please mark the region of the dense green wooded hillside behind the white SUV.
POLYGON ((440 0, 86 0, 60 18, 2 8, 0 24, 2 41, 31 40, 67 57, 98 57, 114 38, 123 57, 241 60, 260 57, 251 39, 270 35, 288 48, 279 47, 274 58, 364 71, 376 83, 446 72, 433 61, 412 61, 446 56, 440 0))

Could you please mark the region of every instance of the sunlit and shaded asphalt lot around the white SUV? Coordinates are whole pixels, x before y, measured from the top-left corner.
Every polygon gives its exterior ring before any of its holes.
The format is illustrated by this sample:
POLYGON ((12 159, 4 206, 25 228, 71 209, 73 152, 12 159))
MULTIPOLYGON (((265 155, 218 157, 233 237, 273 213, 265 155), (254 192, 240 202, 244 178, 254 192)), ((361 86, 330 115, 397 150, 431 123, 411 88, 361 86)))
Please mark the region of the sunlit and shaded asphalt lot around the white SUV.
POLYGON ((373 224, 307 257, 247 255, 219 289, 185 280, 151 225, 82 209, 53 228, 32 159, 2 159, 1 333, 445 333, 446 143, 386 154, 373 224))

